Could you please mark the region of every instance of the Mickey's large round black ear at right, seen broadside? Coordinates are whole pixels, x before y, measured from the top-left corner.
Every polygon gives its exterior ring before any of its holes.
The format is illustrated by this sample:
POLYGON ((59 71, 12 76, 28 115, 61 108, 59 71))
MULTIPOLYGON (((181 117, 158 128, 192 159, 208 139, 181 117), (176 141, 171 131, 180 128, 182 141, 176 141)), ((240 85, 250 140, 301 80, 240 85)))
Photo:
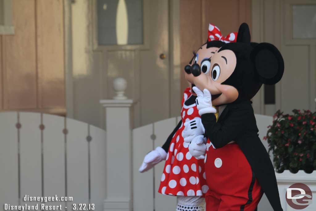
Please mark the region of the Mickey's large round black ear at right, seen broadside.
POLYGON ((279 50, 270 43, 259 43, 251 52, 258 79, 263 84, 276 84, 283 76, 284 61, 279 50))

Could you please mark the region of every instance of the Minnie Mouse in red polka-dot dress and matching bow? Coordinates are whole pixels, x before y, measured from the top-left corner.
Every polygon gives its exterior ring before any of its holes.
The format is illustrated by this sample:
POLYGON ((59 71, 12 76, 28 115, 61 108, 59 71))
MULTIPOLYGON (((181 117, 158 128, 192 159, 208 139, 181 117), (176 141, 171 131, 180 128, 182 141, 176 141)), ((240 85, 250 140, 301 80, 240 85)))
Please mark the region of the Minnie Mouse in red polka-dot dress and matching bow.
MULTIPOLYGON (((200 48, 202 51, 216 51, 225 43, 236 41, 237 33, 222 37, 216 26, 210 24, 209 29, 212 30, 209 31, 207 43, 200 48), (210 35, 213 36, 212 39, 210 35)), ((197 63, 198 55, 193 54, 190 64, 192 64, 193 59, 195 59, 194 64, 197 63)), ((194 137, 204 134, 204 127, 195 103, 197 96, 191 90, 195 85, 193 84, 194 76, 191 74, 190 65, 185 66, 185 78, 190 87, 185 90, 183 95, 181 121, 162 147, 157 147, 145 156, 139 171, 147 171, 166 159, 158 192, 177 196, 176 210, 204 211, 204 196, 209 189, 205 181, 204 162, 192 157, 188 149, 189 143, 194 137)), ((204 158, 204 155, 201 155, 200 158, 204 158)))

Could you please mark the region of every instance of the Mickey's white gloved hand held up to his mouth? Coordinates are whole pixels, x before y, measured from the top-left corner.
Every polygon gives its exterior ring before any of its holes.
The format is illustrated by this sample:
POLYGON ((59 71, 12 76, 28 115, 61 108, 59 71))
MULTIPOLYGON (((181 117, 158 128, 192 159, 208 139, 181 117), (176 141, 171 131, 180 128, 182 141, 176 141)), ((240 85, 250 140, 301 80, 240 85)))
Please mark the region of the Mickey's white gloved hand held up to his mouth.
POLYGON ((195 100, 197 104, 198 114, 202 116, 203 114, 216 113, 216 109, 212 107, 212 96, 209 90, 204 89, 203 92, 194 86, 193 91, 197 94, 195 100))

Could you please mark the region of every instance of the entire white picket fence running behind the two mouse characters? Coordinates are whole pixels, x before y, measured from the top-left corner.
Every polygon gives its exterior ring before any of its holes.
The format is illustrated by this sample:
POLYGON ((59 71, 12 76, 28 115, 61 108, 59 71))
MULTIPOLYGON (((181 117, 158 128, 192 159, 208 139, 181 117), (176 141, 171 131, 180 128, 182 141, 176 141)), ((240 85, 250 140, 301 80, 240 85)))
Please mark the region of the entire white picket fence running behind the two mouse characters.
MULTIPOLYGON (((174 210, 176 197, 157 192, 164 162, 145 173, 139 173, 138 168, 147 152, 163 145, 180 118, 131 130, 121 121, 130 122, 129 112, 122 112, 128 109, 117 102, 111 101, 111 105, 107 133, 61 116, 0 113, 0 204, 34 205, 37 202, 24 202, 24 195, 58 195, 73 197, 71 202, 61 202, 68 210, 73 203, 94 203, 95 210, 174 210), (123 181, 126 179, 130 183, 123 181), (123 190, 113 193, 122 183, 126 185, 123 190), (131 198, 128 194, 120 197, 129 191, 131 198)), ((272 117, 256 118, 262 138, 272 117)))

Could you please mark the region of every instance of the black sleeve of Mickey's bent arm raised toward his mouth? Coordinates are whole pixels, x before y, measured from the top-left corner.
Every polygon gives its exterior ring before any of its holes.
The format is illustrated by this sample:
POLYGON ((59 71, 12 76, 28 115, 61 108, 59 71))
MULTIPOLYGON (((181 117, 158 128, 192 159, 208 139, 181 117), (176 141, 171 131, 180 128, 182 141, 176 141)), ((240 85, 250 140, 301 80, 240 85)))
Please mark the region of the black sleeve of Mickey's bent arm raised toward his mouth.
MULTIPOLYGON (((251 105, 249 105, 251 106, 251 105)), ((216 148, 221 148, 240 136, 246 130, 246 123, 251 112, 247 108, 234 107, 229 110, 228 117, 223 122, 216 122, 214 114, 203 114, 202 124, 205 133, 216 148)))

